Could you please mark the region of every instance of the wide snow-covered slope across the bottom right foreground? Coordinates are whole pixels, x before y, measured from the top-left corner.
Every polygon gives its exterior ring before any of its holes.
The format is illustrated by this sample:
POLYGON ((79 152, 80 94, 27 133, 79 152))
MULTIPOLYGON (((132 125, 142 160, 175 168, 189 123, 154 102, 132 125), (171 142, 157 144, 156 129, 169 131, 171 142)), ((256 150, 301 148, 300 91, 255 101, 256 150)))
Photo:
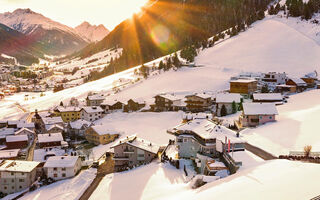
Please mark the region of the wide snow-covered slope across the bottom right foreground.
POLYGON ((310 199, 319 195, 320 165, 262 161, 242 152, 246 166, 236 174, 193 190, 183 170, 153 162, 104 177, 93 199, 310 199), (307 180, 307 181, 306 181, 307 180), (137 183, 137 181, 139 181, 137 183), (299 192, 292 192, 299 191, 299 192), (261 195, 263 194, 263 195, 261 195))

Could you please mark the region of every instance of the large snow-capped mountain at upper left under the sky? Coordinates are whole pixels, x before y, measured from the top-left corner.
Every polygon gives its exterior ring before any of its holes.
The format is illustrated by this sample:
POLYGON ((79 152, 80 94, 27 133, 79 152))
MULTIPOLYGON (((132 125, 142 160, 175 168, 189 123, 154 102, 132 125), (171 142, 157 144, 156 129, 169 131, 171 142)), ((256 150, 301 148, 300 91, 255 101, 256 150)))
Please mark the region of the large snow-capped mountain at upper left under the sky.
POLYGON ((73 28, 30 9, 0 14, 0 23, 25 34, 32 42, 40 42, 45 54, 70 54, 87 45, 73 28))

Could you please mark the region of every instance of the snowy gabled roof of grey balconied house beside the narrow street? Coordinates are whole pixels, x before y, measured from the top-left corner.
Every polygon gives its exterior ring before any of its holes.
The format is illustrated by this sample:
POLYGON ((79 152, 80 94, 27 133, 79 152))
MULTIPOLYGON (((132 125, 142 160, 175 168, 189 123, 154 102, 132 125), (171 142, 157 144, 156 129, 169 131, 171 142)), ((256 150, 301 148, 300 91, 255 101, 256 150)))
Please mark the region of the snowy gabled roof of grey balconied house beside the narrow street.
POLYGON ((113 145, 111 148, 124 143, 154 154, 157 154, 160 148, 159 145, 149 142, 145 139, 138 138, 136 135, 127 136, 120 139, 120 141, 117 144, 113 145))

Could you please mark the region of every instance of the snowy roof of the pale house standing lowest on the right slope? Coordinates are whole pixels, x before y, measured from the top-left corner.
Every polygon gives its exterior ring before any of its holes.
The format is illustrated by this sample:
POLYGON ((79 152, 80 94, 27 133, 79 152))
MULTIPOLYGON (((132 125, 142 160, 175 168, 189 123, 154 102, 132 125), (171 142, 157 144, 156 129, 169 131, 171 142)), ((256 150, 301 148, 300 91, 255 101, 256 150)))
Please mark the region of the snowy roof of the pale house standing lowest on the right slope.
POLYGON ((243 103, 245 115, 277 115, 278 110, 274 103, 243 103))

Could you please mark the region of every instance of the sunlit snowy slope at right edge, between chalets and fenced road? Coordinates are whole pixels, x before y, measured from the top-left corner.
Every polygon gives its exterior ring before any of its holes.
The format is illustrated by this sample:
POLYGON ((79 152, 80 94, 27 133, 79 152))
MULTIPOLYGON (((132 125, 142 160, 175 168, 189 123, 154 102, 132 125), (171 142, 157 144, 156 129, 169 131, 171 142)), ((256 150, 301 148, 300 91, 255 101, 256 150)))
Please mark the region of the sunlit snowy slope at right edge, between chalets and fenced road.
POLYGON ((318 123, 320 117, 320 90, 312 90, 290 96, 288 103, 277 106, 277 121, 241 132, 249 143, 274 154, 303 151, 312 145, 312 151, 320 151, 318 123))

